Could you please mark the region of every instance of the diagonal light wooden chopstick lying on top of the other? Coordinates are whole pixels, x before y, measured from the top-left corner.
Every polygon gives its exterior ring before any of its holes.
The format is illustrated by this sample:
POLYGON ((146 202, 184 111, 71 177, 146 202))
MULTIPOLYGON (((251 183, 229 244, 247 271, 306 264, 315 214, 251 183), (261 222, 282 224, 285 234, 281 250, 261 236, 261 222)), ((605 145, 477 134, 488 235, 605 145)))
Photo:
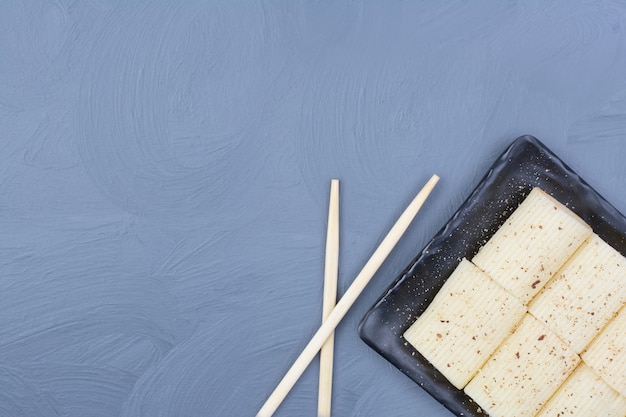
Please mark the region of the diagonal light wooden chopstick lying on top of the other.
POLYGON ((352 285, 350 285, 346 293, 341 297, 326 321, 324 321, 315 335, 313 335, 313 338, 306 345, 298 359, 296 359, 265 404, 263 404, 263 407, 261 407, 257 413, 257 417, 270 417, 274 414, 289 391, 291 391, 291 388, 304 373, 313 358, 315 358, 315 355, 317 355, 317 352, 326 339, 328 339, 328 336, 335 330, 341 319, 343 319, 365 286, 372 279, 376 271, 378 271, 378 268, 387 258, 398 240, 400 240, 400 237, 402 237, 409 227, 409 224, 411 224, 411 221, 422 207, 422 204, 424 204, 424 201, 426 201, 426 198, 435 187, 438 180, 439 177, 433 175, 424 188, 422 188, 413 201, 411 201, 406 210, 400 215, 396 224, 393 225, 380 246, 374 251, 372 257, 367 261, 361 272, 359 272, 352 282, 352 285))

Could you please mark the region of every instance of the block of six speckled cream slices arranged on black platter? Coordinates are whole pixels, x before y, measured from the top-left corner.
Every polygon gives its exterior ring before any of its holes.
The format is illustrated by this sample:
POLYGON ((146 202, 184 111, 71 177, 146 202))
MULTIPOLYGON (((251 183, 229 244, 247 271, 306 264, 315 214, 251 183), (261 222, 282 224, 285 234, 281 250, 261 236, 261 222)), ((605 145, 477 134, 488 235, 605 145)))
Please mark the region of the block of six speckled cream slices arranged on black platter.
POLYGON ((626 258, 535 188, 404 333, 494 417, 626 416, 626 258))

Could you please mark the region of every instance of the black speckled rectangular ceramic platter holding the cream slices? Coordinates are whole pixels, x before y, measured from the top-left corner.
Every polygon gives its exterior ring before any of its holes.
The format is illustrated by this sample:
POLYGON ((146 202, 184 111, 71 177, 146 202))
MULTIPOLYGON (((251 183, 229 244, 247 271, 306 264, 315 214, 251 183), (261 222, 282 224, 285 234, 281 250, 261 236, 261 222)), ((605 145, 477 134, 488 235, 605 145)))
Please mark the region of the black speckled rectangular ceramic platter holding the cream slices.
POLYGON ((626 218, 532 136, 516 139, 359 325, 374 350, 458 416, 480 416, 476 403, 452 386, 402 334, 424 312, 463 258, 472 259, 534 187, 578 214, 626 256, 626 218))

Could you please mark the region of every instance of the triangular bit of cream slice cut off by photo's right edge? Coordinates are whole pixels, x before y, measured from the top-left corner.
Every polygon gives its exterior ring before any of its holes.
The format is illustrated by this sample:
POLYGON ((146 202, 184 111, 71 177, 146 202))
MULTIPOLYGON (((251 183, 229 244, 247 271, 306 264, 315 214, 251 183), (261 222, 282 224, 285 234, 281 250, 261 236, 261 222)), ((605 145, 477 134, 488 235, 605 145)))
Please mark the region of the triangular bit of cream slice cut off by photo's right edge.
POLYGON ((583 361, 626 397, 626 307, 582 354, 583 361))

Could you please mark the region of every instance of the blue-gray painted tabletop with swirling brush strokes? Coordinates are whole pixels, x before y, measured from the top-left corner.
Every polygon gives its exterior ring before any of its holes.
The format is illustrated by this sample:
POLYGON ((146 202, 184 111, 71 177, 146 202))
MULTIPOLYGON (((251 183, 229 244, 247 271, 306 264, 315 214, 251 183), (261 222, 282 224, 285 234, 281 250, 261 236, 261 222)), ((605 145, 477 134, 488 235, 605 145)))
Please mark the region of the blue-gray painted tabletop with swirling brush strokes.
MULTIPOLYGON (((0 416, 252 416, 442 180, 336 335, 336 416, 448 416, 357 337, 533 134, 626 211, 623 2, 0 1, 0 416)), ((317 364, 277 415, 315 415, 317 364)))

